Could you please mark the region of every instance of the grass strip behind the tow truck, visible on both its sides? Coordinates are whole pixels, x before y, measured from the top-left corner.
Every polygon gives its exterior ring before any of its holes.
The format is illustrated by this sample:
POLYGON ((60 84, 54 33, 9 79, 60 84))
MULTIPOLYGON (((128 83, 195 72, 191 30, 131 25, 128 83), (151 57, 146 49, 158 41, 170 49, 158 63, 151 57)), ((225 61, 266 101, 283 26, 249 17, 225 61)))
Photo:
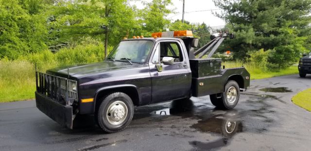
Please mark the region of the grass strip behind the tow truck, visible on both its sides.
MULTIPOLYGON (((0 60, 0 102, 22 101, 35 98, 35 62, 37 63, 40 71, 45 71, 49 68, 63 65, 96 62, 102 60, 102 56, 93 55, 92 52, 90 52, 93 48, 90 47, 86 50, 87 51, 83 53, 81 52, 82 48, 77 50, 66 50, 66 52, 61 52, 59 54, 41 52, 40 54, 26 56, 15 61, 0 60), (83 58, 81 54, 87 57, 83 58), (64 58, 64 56, 74 57, 64 58), (68 61, 69 59, 71 61, 68 61), (66 62, 64 63, 61 60, 66 60, 66 62)), ((225 62, 223 65, 225 65, 226 68, 244 66, 250 72, 251 79, 263 79, 298 73, 296 66, 281 69, 280 72, 276 72, 262 71, 260 67, 256 67, 252 64, 243 64, 240 61, 225 62)))

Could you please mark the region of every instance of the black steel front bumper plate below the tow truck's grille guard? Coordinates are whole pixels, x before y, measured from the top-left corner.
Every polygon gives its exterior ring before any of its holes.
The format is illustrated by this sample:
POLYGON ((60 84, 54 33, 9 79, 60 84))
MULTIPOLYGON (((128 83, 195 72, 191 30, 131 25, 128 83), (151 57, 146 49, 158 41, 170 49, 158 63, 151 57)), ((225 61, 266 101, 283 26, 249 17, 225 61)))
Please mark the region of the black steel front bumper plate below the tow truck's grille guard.
POLYGON ((37 108, 60 125, 72 129, 72 106, 60 104, 44 95, 35 92, 37 108))

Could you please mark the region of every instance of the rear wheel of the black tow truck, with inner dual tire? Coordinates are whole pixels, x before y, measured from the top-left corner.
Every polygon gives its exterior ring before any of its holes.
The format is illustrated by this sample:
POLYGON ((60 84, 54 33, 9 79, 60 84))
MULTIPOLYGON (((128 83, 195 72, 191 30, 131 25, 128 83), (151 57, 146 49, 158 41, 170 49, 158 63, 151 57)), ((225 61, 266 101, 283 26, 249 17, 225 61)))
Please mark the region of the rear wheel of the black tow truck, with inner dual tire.
POLYGON ((239 102, 240 99, 240 87, 235 81, 228 81, 225 84, 225 92, 222 97, 217 98, 216 94, 209 96, 210 101, 213 105, 222 109, 233 109, 239 102))

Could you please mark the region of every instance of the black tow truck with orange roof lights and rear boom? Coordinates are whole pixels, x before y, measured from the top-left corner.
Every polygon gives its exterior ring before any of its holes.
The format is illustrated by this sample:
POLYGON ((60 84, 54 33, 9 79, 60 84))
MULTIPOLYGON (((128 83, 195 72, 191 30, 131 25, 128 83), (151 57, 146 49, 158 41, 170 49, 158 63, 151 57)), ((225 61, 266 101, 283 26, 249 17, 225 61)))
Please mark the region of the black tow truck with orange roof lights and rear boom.
POLYGON ((70 129, 76 116, 94 115, 99 127, 113 133, 130 123, 134 106, 206 95, 217 108, 237 105, 250 74, 211 59, 233 34, 211 36, 196 51, 198 39, 191 31, 152 36, 121 40, 103 62, 36 71, 37 108, 70 129))

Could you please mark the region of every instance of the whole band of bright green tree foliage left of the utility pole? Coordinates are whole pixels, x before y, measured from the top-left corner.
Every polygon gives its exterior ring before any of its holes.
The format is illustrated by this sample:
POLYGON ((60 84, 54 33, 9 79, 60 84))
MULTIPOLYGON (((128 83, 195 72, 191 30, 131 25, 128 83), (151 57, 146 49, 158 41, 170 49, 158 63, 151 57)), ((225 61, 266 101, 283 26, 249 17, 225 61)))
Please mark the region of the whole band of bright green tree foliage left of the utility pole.
POLYGON ((107 47, 123 37, 163 31, 171 0, 153 0, 138 10, 128 0, 0 0, 0 59, 57 51, 87 38, 107 47))

